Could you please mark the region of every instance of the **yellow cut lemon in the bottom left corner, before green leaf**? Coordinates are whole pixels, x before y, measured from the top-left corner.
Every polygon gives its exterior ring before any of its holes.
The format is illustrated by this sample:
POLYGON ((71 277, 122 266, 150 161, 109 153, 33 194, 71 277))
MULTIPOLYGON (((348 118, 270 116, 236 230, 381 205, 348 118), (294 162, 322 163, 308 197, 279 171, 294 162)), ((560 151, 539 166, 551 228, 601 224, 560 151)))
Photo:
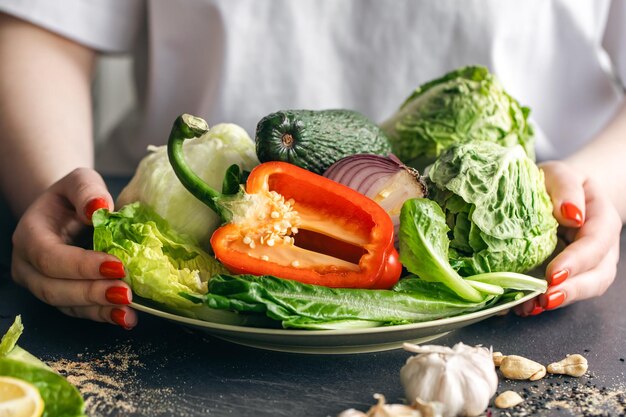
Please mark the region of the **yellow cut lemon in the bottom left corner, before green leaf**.
POLYGON ((0 376, 0 416, 39 417, 43 400, 33 384, 10 376, 0 376))

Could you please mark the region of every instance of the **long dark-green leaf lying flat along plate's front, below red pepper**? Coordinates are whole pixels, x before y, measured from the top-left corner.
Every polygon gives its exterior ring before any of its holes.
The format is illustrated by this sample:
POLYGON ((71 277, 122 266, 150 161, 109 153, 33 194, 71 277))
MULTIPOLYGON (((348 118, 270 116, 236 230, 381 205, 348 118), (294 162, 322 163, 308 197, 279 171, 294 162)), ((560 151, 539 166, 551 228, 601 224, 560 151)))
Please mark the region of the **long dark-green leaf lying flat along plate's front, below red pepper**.
MULTIPOLYGON (((402 280, 405 281, 405 280, 402 280)), ((272 276, 211 278, 209 293, 187 297, 211 308, 266 314, 285 328, 345 329, 406 324, 455 316, 484 308, 460 300, 445 287, 414 280, 395 290, 329 288, 272 276)))

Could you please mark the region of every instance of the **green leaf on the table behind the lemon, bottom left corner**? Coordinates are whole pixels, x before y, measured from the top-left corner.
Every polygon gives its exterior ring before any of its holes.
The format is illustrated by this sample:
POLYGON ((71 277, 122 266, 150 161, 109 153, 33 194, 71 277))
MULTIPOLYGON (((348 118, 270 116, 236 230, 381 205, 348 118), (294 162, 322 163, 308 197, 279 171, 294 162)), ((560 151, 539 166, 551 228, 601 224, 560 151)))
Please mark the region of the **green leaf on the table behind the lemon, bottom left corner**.
POLYGON ((37 387, 45 404, 43 417, 85 416, 84 401, 76 387, 16 345, 23 330, 21 318, 17 316, 2 337, 0 375, 22 379, 37 387))

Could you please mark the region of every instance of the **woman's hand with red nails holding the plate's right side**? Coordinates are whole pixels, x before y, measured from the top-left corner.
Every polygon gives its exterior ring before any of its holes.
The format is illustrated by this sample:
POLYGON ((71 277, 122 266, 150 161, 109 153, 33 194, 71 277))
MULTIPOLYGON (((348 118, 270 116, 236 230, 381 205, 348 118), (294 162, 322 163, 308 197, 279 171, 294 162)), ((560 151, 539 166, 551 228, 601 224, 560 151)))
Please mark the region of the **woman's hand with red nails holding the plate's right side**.
POLYGON ((568 245, 548 264, 548 291, 516 308, 522 316, 604 294, 615 279, 619 258, 622 221, 599 184, 564 162, 540 167, 560 224, 559 236, 568 245))

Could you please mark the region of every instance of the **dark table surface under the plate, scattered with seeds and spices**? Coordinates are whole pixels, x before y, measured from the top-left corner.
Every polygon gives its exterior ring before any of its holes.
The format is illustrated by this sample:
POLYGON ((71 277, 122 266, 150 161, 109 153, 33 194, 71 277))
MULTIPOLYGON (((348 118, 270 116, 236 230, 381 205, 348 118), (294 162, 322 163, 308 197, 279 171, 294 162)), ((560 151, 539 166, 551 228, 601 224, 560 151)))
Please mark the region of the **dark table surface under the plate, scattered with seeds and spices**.
MULTIPOLYGON (((622 234, 622 241, 626 234, 622 234)), ((537 382, 500 379, 499 392, 527 397, 492 415, 620 415, 626 404, 626 251, 615 283, 602 297, 520 318, 496 316, 433 342, 493 346, 548 364, 581 353, 581 378, 537 382)), ((139 313, 132 331, 64 316, 0 278, 0 331, 21 314, 19 344, 65 374, 90 416, 336 416, 367 410, 374 393, 402 402, 402 350, 307 355, 243 347, 139 313)))

